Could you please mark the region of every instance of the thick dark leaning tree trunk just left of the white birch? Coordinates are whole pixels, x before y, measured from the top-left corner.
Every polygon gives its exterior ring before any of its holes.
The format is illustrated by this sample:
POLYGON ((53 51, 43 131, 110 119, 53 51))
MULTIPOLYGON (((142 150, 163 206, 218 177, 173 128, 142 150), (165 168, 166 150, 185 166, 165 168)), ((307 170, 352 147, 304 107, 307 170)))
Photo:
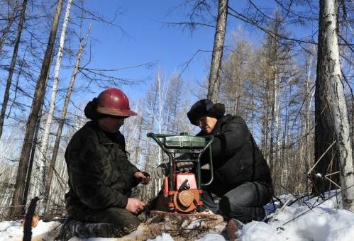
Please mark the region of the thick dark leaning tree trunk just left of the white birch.
POLYGON ((25 138, 23 140, 21 156, 18 162, 18 171, 16 175, 15 191, 13 193, 12 204, 10 208, 10 216, 21 215, 23 210, 21 204, 23 200, 23 187, 26 182, 26 172, 28 169, 28 159, 31 153, 31 142, 35 132, 35 123, 38 120, 38 113, 40 106, 43 104, 43 98, 45 96, 45 82, 47 79, 48 71, 50 68, 50 61, 52 56, 52 50, 55 43, 55 35, 57 34, 57 23, 59 22, 60 13, 62 11, 63 0, 57 1, 57 9, 50 29, 50 35, 48 39, 47 49, 45 50, 45 56, 43 60, 42 68, 40 69, 40 77, 38 78, 37 85, 35 86, 35 94, 33 96, 31 113, 28 117, 26 126, 25 138))

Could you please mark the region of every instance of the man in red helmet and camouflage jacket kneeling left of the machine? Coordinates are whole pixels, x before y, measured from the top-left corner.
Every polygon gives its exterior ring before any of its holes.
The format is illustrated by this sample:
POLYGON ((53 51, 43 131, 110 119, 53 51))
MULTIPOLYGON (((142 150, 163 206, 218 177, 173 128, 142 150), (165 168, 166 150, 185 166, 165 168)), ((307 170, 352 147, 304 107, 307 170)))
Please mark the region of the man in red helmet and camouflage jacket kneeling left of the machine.
POLYGON ((118 235, 135 230, 137 215, 145 203, 131 198, 131 189, 147 184, 150 175, 128 161, 124 136, 119 128, 124 119, 136 116, 123 91, 102 91, 87 103, 91 119, 74 134, 65 152, 70 190, 65 194, 69 217, 85 223, 112 223, 118 235))

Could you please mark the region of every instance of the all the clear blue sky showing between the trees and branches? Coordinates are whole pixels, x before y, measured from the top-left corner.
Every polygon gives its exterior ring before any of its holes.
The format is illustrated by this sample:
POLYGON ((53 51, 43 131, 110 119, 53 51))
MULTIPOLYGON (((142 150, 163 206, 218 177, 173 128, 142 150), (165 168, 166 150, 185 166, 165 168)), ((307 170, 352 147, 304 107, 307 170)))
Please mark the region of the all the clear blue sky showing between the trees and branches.
MULTIPOLYGON (((87 67, 101 69, 117 69, 122 67, 130 67, 140 65, 147 62, 154 62, 153 68, 135 68, 126 69, 116 73, 119 77, 128 79, 144 79, 145 82, 132 86, 119 86, 126 92, 131 102, 137 101, 143 97, 145 90, 155 80, 157 69, 162 72, 162 77, 170 77, 174 73, 182 70, 182 64, 190 60, 197 50, 211 51, 214 43, 214 28, 199 27, 194 30, 193 34, 188 29, 168 26, 162 22, 180 22, 188 21, 187 12, 183 8, 176 9, 169 13, 170 9, 178 6, 184 0, 163 1, 112 1, 112 0, 85 0, 84 8, 90 11, 96 11, 105 18, 111 19, 116 11, 118 14, 115 24, 121 26, 126 34, 123 34, 120 28, 109 26, 108 24, 93 22, 91 62, 87 67), (169 14, 167 14, 169 13, 169 14)), ((229 5, 233 9, 242 11, 245 0, 229 1, 229 5)), ((254 0, 258 6, 274 5, 274 1, 254 0)), ((77 4, 76 1, 74 3, 77 4)), ((50 5, 48 11, 54 11, 55 4, 50 5)), ((63 7, 62 17, 64 15, 66 5, 63 7)), ((73 7, 75 9, 76 7, 73 7)), ((273 11, 274 6, 270 8, 273 11)), ((78 9, 75 9, 76 11, 78 9)), ((214 9, 216 13, 216 9, 214 9)), ((74 16, 72 13, 71 16, 74 16)), ((76 14, 77 17, 77 14, 76 14)), ((77 28, 77 18, 70 23, 70 28, 77 28), (76 25, 75 25, 76 24, 76 25)), ((89 20, 84 23, 86 26, 89 20)), ((50 23, 48 23, 50 25, 50 23)), ((60 34, 62 26, 58 28, 60 34)), ((226 47, 232 45, 231 33, 236 32, 238 28, 242 28, 243 38, 250 40, 254 45, 260 45, 263 39, 263 33, 255 28, 250 28, 244 23, 237 21, 236 18, 228 16, 228 24, 226 29, 226 47)), ((316 28, 316 26, 315 26, 316 28)), ((313 29, 308 28, 307 31, 313 29)), ((294 29, 292 29, 294 31, 294 29)), ((302 33, 301 30, 295 30, 302 33)), ((306 31, 305 31, 306 32, 306 31)), ((43 40, 45 41, 45 40, 43 40)), ((21 46, 26 47, 26 46, 21 46)), ((77 47, 77 43, 72 43, 72 47, 77 47)), ((87 62, 88 47, 85 50, 86 58, 82 60, 82 65, 87 62)), ((54 57, 56 59, 56 57, 54 57)), ((74 64, 72 58, 70 65, 74 64)), ((199 53, 190 63, 189 67, 184 71, 182 78, 188 82, 189 86, 194 89, 199 88, 197 82, 206 79, 209 73, 211 52, 199 53)), ((68 65, 67 62, 63 65, 68 65)), ((52 74, 52 72, 51 72, 52 74)), ((60 70, 60 88, 66 89, 67 82, 72 74, 72 67, 60 70)), ((6 75, 6 74, 4 74, 6 75)), ((87 82, 82 74, 77 77, 75 86, 79 86, 83 82, 87 82)), ((50 96, 50 88, 47 88, 47 99, 50 96)), ((85 91, 84 93, 74 93, 72 101, 76 106, 82 106, 87 101, 97 96, 102 89, 92 88, 94 93, 85 91)), ((60 108, 61 98, 57 98, 57 108, 60 108)))

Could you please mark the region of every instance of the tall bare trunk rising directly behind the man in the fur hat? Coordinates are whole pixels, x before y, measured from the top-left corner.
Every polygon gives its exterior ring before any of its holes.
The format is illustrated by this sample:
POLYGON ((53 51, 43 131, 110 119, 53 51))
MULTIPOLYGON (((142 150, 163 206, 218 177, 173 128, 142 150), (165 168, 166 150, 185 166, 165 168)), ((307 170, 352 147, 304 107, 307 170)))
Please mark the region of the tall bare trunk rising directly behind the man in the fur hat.
POLYGON ((228 16, 228 0, 219 0, 218 18, 214 36, 213 57, 209 74, 209 86, 207 98, 216 103, 219 97, 221 60, 223 58, 223 43, 226 33, 226 21, 228 16))

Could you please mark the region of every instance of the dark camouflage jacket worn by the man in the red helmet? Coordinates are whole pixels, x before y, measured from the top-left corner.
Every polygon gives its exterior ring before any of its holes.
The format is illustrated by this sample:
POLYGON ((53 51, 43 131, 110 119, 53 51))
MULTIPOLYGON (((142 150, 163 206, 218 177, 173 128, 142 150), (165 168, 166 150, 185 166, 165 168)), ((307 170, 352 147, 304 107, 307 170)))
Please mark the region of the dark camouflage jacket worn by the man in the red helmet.
POLYGON ((89 121, 74 134, 65 152, 69 191, 67 213, 81 219, 90 210, 126 208, 140 172, 128 161, 121 133, 109 138, 96 121, 89 121), (113 140, 112 140, 113 139, 113 140))

